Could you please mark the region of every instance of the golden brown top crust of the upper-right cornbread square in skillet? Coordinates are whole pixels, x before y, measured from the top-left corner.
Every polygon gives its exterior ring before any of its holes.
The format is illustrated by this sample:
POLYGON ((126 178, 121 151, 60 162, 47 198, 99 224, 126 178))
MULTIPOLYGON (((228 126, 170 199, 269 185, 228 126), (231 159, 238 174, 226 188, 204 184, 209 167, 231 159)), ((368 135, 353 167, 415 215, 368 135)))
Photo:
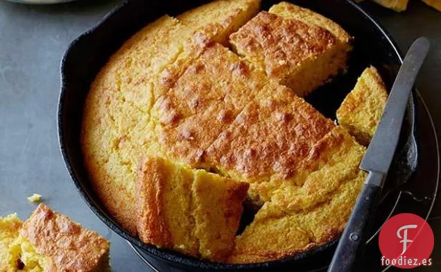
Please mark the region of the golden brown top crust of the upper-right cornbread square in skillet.
POLYGON ((334 46, 336 38, 324 28, 262 11, 230 42, 268 77, 284 80, 302 62, 334 46))

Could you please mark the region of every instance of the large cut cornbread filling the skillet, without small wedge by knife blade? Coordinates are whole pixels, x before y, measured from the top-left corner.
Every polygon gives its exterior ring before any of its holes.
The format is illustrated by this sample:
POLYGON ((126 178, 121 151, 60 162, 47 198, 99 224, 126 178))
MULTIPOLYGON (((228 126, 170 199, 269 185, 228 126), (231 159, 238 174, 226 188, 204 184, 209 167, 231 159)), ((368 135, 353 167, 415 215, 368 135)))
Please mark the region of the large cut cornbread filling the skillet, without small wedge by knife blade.
POLYGON ((215 262, 260 262, 333 239, 345 224, 364 149, 299 96, 345 69, 352 38, 292 4, 257 12, 257 0, 213 1, 159 18, 92 83, 85 166, 110 215, 145 243, 215 262), (235 238, 245 198, 263 207, 235 238), (285 208, 304 224, 279 242, 301 242, 277 251, 262 243, 292 222, 265 221, 273 210, 271 220, 282 219, 285 208), (328 219, 338 208, 342 216, 328 219), (254 230, 270 237, 257 241, 254 230), (264 257, 253 257, 252 243, 264 257))

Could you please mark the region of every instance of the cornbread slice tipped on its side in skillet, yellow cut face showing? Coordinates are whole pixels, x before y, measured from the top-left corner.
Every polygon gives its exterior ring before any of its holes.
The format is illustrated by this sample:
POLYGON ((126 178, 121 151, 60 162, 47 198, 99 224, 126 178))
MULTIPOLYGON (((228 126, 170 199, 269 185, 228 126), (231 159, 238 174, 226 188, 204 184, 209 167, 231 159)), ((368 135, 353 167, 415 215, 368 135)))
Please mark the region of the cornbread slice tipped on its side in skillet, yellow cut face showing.
POLYGON ((230 254, 247 183, 147 157, 137 180, 143 242, 221 261, 230 254))

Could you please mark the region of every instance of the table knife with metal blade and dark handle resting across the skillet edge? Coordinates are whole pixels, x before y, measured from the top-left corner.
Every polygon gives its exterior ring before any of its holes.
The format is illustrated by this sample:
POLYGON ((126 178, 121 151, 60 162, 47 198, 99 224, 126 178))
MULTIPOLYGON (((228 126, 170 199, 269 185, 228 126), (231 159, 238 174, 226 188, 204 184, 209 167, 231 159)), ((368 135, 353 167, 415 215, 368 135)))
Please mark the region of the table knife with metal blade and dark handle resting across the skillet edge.
POLYGON ((420 37, 404 57, 377 130, 360 164, 361 170, 368 172, 365 185, 340 237, 328 272, 358 271, 356 257, 363 251, 369 235, 377 200, 397 148, 408 97, 429 46, 429 39, 420 37))

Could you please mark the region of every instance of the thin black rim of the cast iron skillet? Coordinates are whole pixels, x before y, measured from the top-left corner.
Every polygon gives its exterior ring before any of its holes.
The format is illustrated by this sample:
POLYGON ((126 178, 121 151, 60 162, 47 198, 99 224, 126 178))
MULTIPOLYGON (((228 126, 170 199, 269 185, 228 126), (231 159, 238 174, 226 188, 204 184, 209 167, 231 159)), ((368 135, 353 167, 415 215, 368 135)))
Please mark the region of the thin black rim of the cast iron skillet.
MULTIPOLYGON (((367 19, 372 21, 374 26, 376 26, 376 28, 381 31, 383 36, 386 37, 386 39, 388 39, 389 44, 392 46, 397 57, 402 62, 401 53, 400 53, 399 49, 397 48, 397 45, 395 44, 395 42, 390 37, 389 33, 387 33, 386 30, 384 30, 384 28, 376 20, 374 20, 372 18, 372 16, 370 16, 367 12, 365 12, 365 10, 360 8, 358 5, 356 5, 355 3, 352 3, 352 1, 349 1, 349 0, 344 0, 344 1, 349 3, 349 5, 351 5, 351 6, 354 6, 354 8, 359 10, 367 19)), ((58 140, 59 140, 59 144, 60 144, 60 151, 61 151, 62 157, 64 159, 64 165, 66 166, 67 171, 69 172, 69 175, 71 176, 71 179, 74 181, 74 184, 76 185, 76 189, 77 189, 78 193, 85 200, 85 202, 87 203, 87 206, 89 206, 89 208, 95 213, 95 215, 98 216, 98 218, 101 219, 101 221, 103 221, 107 226, 109 226, 112 230, 114 230, 115 233, 117 233, 118 235, 120 235, 124 239, 128 240, 132 244, 139 246, 139 248, 150 253, 151 255, 153 255, 153 257, 157 257, 157 258, 164 260, 165 262, 168 262, 171 264, 176 264, 176 263, 182 264, 182 265, 188 266, 188 268, 192 268, 192 269, 213 269, 213 270, 217 270, 217 271, 230 271, 232 269, 234 269, 234 270, 268 269, 269 267, 278 266, 279 264, 284 264, 286 262, 292 262, 294 260, 300 260, 300 259, 306 257, 307 255, 311 255, 311 254, 315 255, 316 253, 324 251, 327 248, 335 247, 336 240, 329 242, 327 244, 322 244, 321 246, 317 246, 317 247, 311 249, 311 251, 306 251, 300 255, 288 257, 283 260, 277 260, 277 261, 272 261, 272 262, 263 262, 263 263, 258 263, 258 264, 219 264, 219 263, 199 260, 199 259, 196 259, 193 257, 188 257, 186 255, 182 255, 180 253, 175 253, 173 251, 160 250, 158 248, 155 248, 154 246, 148 246, 148 245, 140 242, 139 239, 129 235, 126 232, 126 230, 123 230, 123 228, 121 228, 119 225, 115 224, 115 222, 112 219, 110 219, 110 217, 108 217, 103 210, 98 208, 98 206, 96 205, 92 196, 89 194, 89 192, 87 192, 87 190, 85 190, 83 185, 78 180, 78 178, 76 176, 76 172, 74 171, 74 169, 72 167, 72 163, 69 158, 69 154, 67 152, 67 147, 64 144, 64 134, 63 134, 62 127, 64 124, 64 119, 63 119, 64 118, 64 99, 65 99, 64 94, 66 91, 66 78, 65 78, 66 68, 65 68, 65 65, 67 63, 67 60, 69 60, 72 49, 75 46, 77 46, 80 41, 82 41, 83 39, 87 39, 87 37, 90 34, 94 33, 94 31, 97 28, 99 28, 100 26, 105 24, 107 19, 112 17, 112 15, 114 15, 123 6, 126 6, 127 4, 128 4, 128 1, 123 1, 121 4, 119 4, 119 6, 116 6, 116 8, 114 8, 111 12, 109 12, 107 15, 105 15, 103 20, 101 20, 96 26, 94 26, 94 28, 87 30, 87 32, 83 33, 83 35, 80 35, 80 37, 78 37, 73 42, 71 42, 71 44, 67 48, 66 53, 64 53, 64 56, 63 56, 62 62, 61 62, 61 75, 62 75, 62 77, 61 77, 61 91, 60 91, 59 103, 58 103, 58 140)), ((413 92, 415 92, 415 90, 413 92)), ((412 105, 411 111, 413 111, 413 113, 410 113, 410 114, 413 117, 412 118, 412 125, 413 125, 413 132, 414 132, 411 135, 411 138, 413 138, 413 141, 416 144, 417 140, 415 139, 415 131, 416 131, 415 117, 417 114, 417 109, 415 107, 415 105, 416 105, 415 104, 415 95, 412 95, 411 100, 412 100, 412 103, 410 103, 410 105, 412 105)), ((416 154, 418 154, 418 148, 417 148, 416 154)))

